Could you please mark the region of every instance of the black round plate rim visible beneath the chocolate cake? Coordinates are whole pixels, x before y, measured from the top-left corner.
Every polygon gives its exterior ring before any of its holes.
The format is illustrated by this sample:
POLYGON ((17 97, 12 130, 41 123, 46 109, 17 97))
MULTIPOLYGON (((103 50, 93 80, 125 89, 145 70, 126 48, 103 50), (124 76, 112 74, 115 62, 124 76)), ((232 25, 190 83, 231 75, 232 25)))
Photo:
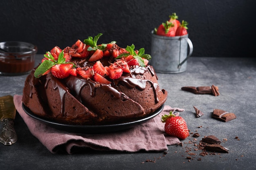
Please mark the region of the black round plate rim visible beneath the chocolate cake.
POLYGON ((43 124, 56 128, 58 130, 64 130, 67 132, 75 132, 75 133, 84 133, 84 134, 97 134, 97 133, 116 132, 120 130, 126 130, 129 128, 138 126, 140 124, 143 124, 146 121, 158 115, 159 113, 161 113, 162 110, 164 109, 164 104, 160 106, 157 110, 155 110, 154 113, 150 115, 146 115, 146 117, 143 117, 139 120, 130 121, 130 122, 121 123, 121 124, 110 124, 110 125, 99 125, 99 126, 82 126, 82 125, 70 125, 70 124, 57 123, 57 122, 49 121, 47 119, 44 119, 42 117, 35 115, 23 103, 22 103, 22 108, 25 111, 25 113, 27 113, 27 115, 29 115, 30 117, 40 121, 43 124))

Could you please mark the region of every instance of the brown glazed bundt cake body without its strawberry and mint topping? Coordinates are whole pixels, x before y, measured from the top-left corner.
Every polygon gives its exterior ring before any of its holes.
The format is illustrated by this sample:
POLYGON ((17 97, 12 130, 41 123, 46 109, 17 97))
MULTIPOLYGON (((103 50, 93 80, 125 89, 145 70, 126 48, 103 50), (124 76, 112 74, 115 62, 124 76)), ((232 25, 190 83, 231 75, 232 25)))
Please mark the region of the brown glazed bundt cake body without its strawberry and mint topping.
MULTIPOLYGON (((120 60, 110 56, 98 61, 110 67, 120 60)), ((76 69, 92 69, 96 63, 79 57, 72 57, 69 62, 74 63, 76 69)), ((128 73, 123 72, 117 79, 105 76, 110 82, 107 84, 81 75, 56 78, 51 72, 36 77, 38 66, 25 81, 22 102, 35 115, 56 122, 75 125, 129 122, 153 113, 167 99, 167 91, 159 88, 157 75, 150 65, 129 66, 128 73)))

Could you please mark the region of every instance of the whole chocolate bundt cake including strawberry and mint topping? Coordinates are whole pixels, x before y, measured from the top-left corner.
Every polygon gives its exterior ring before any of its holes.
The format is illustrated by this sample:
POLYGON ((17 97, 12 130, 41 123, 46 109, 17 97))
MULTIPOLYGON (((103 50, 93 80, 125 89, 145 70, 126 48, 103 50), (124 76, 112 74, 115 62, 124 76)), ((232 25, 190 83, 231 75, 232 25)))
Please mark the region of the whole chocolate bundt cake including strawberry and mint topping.
POLYGON ((106 125, 145 117, 164 104, 167 91, 148 65, 150 55, 133 44, 97 45, 100 35, 44 55, 23 89, 32 113, 65 124, 106 125))

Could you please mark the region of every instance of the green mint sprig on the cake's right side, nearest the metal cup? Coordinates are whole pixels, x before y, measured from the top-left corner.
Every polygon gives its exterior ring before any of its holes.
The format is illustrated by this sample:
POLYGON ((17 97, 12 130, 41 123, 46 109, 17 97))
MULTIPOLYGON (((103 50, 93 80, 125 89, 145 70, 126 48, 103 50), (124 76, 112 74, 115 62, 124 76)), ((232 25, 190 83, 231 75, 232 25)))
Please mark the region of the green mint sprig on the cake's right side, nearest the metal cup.
POLYGON ((132 44, 131 46, 127 46, 126 47, 126 51, 128 51, 128 53, 122 53, 119 56, 117 56, 115 59, 120 59, 122 57, 127 57, 128 55, 132 55, 133 58, 137 58, 138 59, 139 65, 141 67, 145 67, 146 65, 144 64, 144 60, 142 58, 150 60, 151 59, 151 55, 144 54, 145 53, 145 49, 144 48, 139 49, 138 54, 135 52, 134 49, 135 49, 134 44, 132 44))

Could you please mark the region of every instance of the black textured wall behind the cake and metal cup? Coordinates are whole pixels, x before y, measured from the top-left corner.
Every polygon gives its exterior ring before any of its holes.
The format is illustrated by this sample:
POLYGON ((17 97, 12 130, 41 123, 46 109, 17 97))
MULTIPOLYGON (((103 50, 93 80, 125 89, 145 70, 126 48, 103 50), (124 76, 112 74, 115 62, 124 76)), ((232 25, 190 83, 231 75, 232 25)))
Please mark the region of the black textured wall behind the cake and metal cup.
POLYGON ((1 0, 0 42, 31 42, 45 53, 103 33, 99 43, 150 53, 150 32, 176 12, 189 22, 192 56, 254 57, 255 7, 255 0, 1 0))

